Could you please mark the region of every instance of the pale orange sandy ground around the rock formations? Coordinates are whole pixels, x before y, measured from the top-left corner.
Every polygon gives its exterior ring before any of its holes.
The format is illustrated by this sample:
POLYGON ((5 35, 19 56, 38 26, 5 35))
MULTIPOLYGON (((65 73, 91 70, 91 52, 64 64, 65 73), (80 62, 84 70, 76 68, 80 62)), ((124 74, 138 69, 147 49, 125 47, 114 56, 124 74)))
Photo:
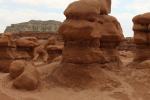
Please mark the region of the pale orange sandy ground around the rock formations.
MULTIPOLYGON (((102 70, 120 83, 120 86, 114 89, 76 90, 55 87, 42 80, 37 90, 17 90, 12 87, 9 75, 0 73, 0 100, 150 100, 150 69, 138 70, 126 67, 132 62, 133 53, 123 51, 120 55, 124 62, 120 71, 102 70)), ((39 68, 40 73, 43 75, 50 73, 55 64, 42 66, 39 68)))

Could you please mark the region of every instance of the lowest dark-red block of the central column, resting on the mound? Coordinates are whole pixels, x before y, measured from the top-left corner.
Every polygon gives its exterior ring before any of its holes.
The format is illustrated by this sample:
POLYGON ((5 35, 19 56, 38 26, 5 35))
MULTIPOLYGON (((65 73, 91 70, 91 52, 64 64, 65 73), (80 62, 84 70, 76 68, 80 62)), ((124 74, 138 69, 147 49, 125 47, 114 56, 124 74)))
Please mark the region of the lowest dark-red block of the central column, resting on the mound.
POLYGON ((76 64, 105 63, 105 58, 100 48, 93 47, 65 47, 63 62, 76 64))

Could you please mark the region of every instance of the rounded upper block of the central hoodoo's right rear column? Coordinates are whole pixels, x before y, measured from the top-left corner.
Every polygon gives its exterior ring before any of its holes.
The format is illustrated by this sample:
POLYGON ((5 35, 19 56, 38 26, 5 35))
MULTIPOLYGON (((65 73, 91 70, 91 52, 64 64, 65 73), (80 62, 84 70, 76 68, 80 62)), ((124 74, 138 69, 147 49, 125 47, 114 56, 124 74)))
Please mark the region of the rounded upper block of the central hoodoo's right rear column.
POLYGON ((124 39, 121 25, 115 17, 100 15, 98 22, 103 27, 100 30, 102 41, 121 42, 124 39))

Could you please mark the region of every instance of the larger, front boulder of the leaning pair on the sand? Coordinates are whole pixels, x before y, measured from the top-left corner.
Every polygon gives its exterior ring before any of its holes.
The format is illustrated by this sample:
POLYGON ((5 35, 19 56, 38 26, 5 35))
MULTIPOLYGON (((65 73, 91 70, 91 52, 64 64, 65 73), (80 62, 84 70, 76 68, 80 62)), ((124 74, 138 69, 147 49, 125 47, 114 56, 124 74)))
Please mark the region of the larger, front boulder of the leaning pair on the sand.
POLYGON ((24 72, 17 77, 13 86, 17 89, 34 90, 39 84, 39 73, 37 69, 30 63, 25 66, 24 72))

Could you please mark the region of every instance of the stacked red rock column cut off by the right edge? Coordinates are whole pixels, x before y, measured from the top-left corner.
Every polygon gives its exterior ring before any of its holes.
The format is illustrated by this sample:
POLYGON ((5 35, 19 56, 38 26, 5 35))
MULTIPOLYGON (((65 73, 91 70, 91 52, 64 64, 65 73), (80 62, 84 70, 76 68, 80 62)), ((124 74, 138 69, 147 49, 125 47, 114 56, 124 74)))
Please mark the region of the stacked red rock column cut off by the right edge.
POLYGON ((137 15, 133 18, 134 42, 136 44, 135 61, 150 59, 150 13, 137 15))

